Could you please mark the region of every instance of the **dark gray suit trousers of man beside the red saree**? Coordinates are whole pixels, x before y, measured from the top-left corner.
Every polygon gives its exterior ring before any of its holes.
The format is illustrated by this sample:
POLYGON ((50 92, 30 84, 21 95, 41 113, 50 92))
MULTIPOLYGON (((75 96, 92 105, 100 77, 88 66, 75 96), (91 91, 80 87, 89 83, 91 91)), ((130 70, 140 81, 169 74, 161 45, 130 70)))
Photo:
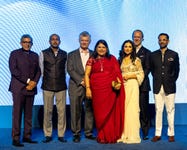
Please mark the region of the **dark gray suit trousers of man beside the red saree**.
POLYGON ((81 114, 82 106, 84 106, 84 134, 86 136, 92 135, 93 130, 93 109, 92 101, 85 98, 85 89, 83 87, 78 87, 77 90, 69 91, 70 96, 70 111, 71 111, 71 130, 73 135, 80 135, 81 132, 81 114), (84 103, 84 105, 83 105, 84 103))

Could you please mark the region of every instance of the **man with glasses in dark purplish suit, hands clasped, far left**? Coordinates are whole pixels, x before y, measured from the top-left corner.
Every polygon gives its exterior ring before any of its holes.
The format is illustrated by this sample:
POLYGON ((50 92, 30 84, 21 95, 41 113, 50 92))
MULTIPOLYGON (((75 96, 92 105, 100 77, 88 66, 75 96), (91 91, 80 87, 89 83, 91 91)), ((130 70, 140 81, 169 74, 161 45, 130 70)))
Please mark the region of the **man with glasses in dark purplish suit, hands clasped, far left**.
POLYGON ((33 44, 32 37, 28 34, 22 35, 20 44, 22 48, 12 51, 9 58, 11 73, 9 91, 13 97, 12 145, 22 147, 24 146, 20 142, 22 112, 24 113, 23 142, 37 143, 31 139, 32 106, 41 71, 38 54, 30 50, 33 44))

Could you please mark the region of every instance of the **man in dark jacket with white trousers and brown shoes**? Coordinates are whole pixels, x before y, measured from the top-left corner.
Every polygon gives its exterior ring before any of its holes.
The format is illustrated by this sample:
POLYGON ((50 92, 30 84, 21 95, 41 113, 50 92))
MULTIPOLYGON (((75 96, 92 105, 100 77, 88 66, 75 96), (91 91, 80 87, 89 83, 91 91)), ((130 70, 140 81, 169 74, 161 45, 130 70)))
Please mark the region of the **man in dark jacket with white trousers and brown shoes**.
POLYGON ((174 142, 174 101, 176 80, 179 76, 179 56, 178 53, 167 48, 169 43, 168 34, 159 34, 158 43, 160 49, 151 54, 151 73, 153 76, 153 93, 156 110, 156 131, 152 142, 157 142, 161 139, 164 105, 168 120, 168 141, 174 142))

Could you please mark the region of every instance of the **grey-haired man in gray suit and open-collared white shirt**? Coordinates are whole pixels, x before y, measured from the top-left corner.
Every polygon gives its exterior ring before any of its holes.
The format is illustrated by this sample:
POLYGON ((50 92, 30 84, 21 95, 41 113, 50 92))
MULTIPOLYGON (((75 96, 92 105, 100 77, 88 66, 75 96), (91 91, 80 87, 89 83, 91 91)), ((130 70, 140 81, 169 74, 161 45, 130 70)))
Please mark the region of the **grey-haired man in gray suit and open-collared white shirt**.
POLYGON ((84 102, 85 122, 84 133, 88 139, 95 139, 92 135, 93 130, 93 110, 92 101, 86 99, 84 70, 86 62, 92 51, 88 48, 91 42, 91 35, 84 31, 79 35, 80 47, 68 54, 67 71, 70 75, 69 97, 71 111, 71 130, 73 141, 80 142, 82 104, 84 102))

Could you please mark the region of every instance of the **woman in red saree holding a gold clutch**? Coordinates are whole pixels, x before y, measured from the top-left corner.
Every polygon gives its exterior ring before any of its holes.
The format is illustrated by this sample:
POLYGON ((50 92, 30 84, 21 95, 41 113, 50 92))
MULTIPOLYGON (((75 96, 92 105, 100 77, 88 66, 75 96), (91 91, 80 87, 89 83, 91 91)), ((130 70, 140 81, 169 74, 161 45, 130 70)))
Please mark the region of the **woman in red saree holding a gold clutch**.
POLYGON ((92 100, 98 143, 116 143, 123 131, 125 92, 118 61, 99 40, 85 70, 86 96, 92 100))

